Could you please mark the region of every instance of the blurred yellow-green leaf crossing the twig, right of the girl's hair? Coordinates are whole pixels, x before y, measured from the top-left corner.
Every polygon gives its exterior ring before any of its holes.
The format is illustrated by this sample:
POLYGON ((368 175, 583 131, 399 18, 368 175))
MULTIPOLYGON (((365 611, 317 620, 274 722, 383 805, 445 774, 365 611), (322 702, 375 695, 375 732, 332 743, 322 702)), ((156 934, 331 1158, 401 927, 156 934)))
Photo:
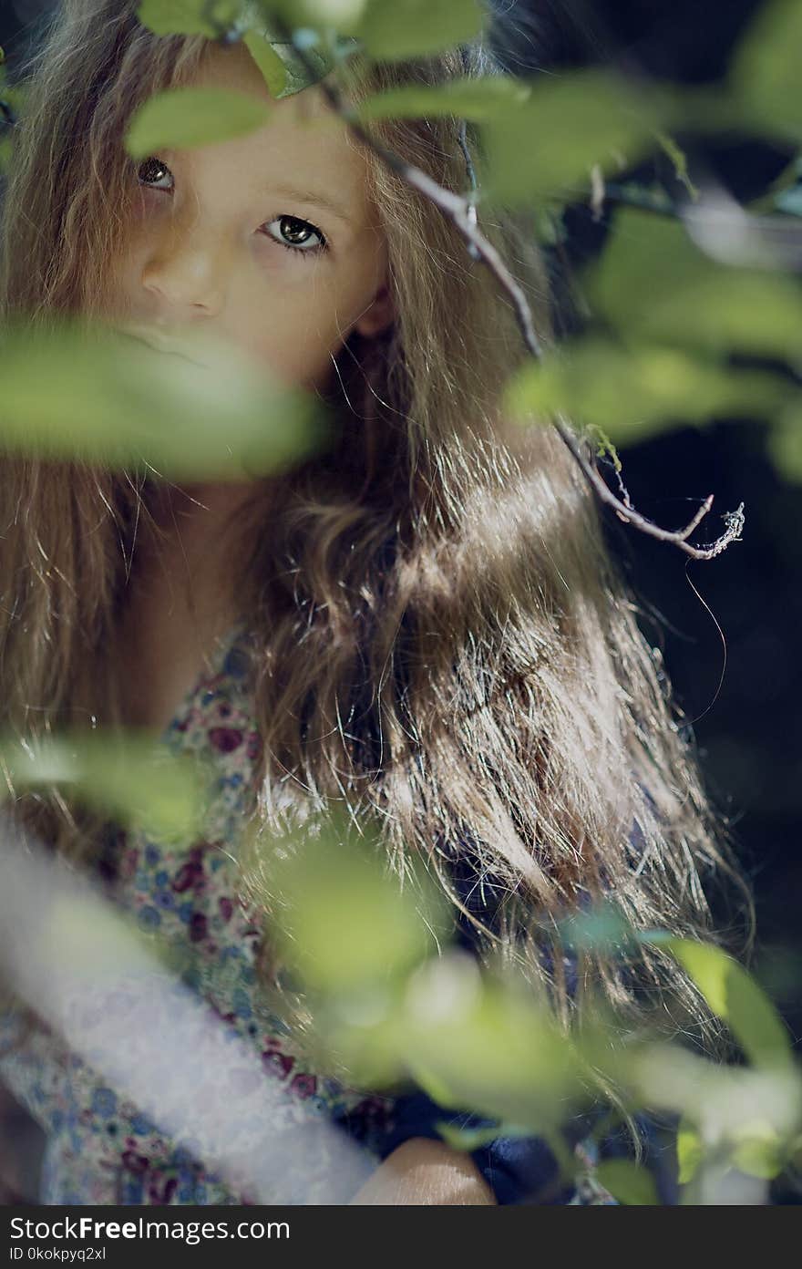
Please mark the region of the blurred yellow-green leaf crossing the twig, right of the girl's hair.
POLYGON ((732 371, 678 348, 622 348, 585 336, 529 362, 504 391, 510 416, 532 424, 555 411, 633 444, 678 423, 770 416, 789 396, 768 371, 732 371))

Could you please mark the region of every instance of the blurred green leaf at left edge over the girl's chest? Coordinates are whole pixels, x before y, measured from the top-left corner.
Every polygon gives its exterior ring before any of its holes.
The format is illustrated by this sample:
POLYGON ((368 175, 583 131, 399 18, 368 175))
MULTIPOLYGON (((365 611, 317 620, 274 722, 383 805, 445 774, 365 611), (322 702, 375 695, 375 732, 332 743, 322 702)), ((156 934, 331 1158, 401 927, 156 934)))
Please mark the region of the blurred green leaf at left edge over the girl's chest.
POLYGON ((197 838, 208 806, 211 768, 194 755, 171 754, 152 736, 112 739, 74 731, 47 741, 0 740, 15 787, 57 784, 118 822, 157 840, 197 838))

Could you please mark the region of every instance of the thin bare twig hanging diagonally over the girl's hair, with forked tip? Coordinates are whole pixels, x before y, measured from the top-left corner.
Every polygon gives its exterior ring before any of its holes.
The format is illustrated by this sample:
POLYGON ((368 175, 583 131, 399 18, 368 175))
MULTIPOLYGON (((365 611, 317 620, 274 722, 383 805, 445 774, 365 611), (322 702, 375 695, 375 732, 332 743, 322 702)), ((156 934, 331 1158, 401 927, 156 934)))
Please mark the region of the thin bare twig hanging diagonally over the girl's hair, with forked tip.
MULTIPOLYGON (((452 221, 454 227, 462 233, 466 240, 467 249, 475 260, 480 260, 485 264, 497 282, 501 284, 504 291, 508 293, 513 301, 513 307, 515 310, 518 325, 524 338, 524 343, 532 357, 536 360, 543 359, 543 348, 534 330, 534 322, 532 319, 532 310, 527 297, 518 284, 513 274, 506 268, 504 260, 492 246, 491 242, 483 236, 476 223, 476 208, 473 204, 473 198, 466 198, 461 194, 453 194, 450 190, 444 189, 438 185, 437 181, 431 180, 426 173, 421 171, 420 168, 415 168, 412 164, 405 162, 398 155, 387 150, 381 142, 376 141, 373 137, 365 132, 365 129, 359 123, 358 113, 348 105, 344 100, 343 94, 338 85, 329 82, 326 79, 317 79, 317 69, 312 63, 311 58, 307 57, 306 49, 302 48, 294 38, 294 30, 283 20, 282 15, 278 13, 272 14, 272 23, 278 34, 293 44, 294 52, 298 60, 306 69, 311 80, 316 80, 319 88, 322 90, 326 100, 331 109, 340 115, 340 118, 348 124, 352 133, 362 141, 369 150, 377 155, 392 171, 395 171, 402 180, 405 180, 412 189, 424 194, 430 202, 433 202, 440 211, 452 221)), ((472 190, 473 194, 473 190, 472 190)), ((648 520, 640 511, 636 511, 632 506, 629 497, 622 501, 615 496, 615 494, 607 486, 600 472, 594 463, 588 462, 585 454, 581 450, 580 443, 574 435, 572 430, 566 423, 557 415, 553 419, 553 426, 558 435, 562 438, 565 444, 571 450, 574 458, 579 463, 585 478, 589 481, 590 486, 595 490, 598 496, 608 506, 612 506, 615 514, 624 524, 633 524, 636 528, 641 529, 642 533, 647 533, 650 537, 659 538, 661 542, 671 542, 678 546, 687 555, 692 556, 694 560, 712 560, 713 556, 720 555, 731 542, 741 536, 744 528, 744 504, 741 503, 736 511, 727 511, 725 514, 725 522, 727 528, 725 533, 712 542, 707 547, 694 547, 687 539, 700 523, 700 520, 708 514, 713 505, 713 495, 709 494, 694 518, 684 529, 662 529, 660 525, 648 520)))

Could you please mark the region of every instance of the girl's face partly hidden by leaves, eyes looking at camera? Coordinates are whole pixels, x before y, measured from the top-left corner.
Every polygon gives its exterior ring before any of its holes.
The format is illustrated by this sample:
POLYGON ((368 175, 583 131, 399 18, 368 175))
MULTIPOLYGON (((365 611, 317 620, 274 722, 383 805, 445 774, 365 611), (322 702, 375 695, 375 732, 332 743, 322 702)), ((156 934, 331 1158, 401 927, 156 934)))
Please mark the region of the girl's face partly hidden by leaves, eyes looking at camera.
POLYGON ((322 390, 349 332, 393 319, 363 154, 317 85, 274 100, 244 44, 213 46, 195 85, 253 94, 269 121, 138 165, 108 316, 168 332, 197 324, 284 383, 322 390))

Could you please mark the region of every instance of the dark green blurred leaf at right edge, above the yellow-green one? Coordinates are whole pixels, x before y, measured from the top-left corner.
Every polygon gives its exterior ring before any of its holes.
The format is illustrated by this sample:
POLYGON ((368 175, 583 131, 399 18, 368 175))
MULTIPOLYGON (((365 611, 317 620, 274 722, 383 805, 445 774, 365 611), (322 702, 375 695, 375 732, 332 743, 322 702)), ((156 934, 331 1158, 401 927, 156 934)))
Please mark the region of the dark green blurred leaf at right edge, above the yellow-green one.
POLYGON ((676 221, 622 208, 588 272, 588 299, 632 344, 754 353, 797 362, 802 294, 779 273, 717 264, 676 221))

